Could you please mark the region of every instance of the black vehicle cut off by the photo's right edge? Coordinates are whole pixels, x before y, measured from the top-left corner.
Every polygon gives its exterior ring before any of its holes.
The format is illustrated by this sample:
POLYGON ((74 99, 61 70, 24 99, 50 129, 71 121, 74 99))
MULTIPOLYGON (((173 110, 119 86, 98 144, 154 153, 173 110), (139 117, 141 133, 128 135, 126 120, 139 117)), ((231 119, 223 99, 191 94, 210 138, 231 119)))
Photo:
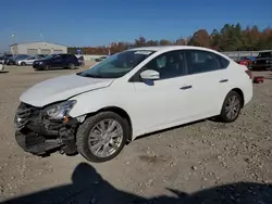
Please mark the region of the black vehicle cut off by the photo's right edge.
POLYGON ((251 68, 252 71, 272 71, 272 50, 259 52, 251 68))

